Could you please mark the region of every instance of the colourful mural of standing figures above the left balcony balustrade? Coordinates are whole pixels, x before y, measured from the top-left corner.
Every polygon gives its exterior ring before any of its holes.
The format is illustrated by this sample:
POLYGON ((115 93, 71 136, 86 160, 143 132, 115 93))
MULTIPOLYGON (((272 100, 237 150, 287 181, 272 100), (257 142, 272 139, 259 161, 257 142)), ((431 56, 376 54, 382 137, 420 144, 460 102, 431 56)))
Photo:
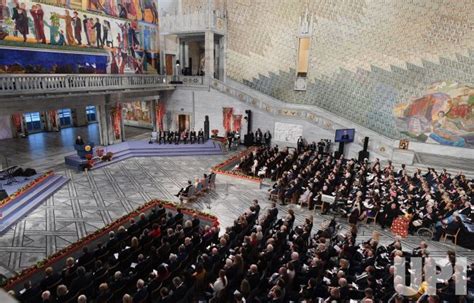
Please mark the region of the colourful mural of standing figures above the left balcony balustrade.
POLYGON ((159 67, 156 0, 0 0, 0 13, 0 73, 156 73, 159 67), (11 60, 19 47, 23 55, 11 60), (71 54, 87 68, 71 67, 71 54))

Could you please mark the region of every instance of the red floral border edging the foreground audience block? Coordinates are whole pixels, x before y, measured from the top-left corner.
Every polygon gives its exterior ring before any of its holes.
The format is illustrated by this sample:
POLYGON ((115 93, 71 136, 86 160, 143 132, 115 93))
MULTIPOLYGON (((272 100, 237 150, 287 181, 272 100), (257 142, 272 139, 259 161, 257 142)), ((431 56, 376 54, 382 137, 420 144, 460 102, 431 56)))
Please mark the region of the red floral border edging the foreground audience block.
POLYGON ((176 205, 172 202, 168 202, 168 201, 151 200, 151 201, 143 204, 142 206, 138 207, 134 211, 118 218, 114 222, 112 222, 112 223, 96 230, 95 232, 93 232, 93 233, 85 236, 84 238, 72 243, 71 245, 55 252, 54 254, 49 256, 48 258, 46 258, 42 261, 38 261, 36 263, 36 265, 30 266, 30 267, 22 270, 17 276, 14 276, 14 277, 6 280, 5 285, 3 285, 2 287, 4 289, 7 289, 7 290, 14 288, 19 283, 23 283, 24 281, 28 280, 35 273, 37 273, 39 271, 42 271, 43 268, 51 266, 52 264, 56 263, 57 261, 66 258, 67 256, 74 253, 75 251, 82 249, 82 247, 88 245, 89 243, 91 243, 91 242, 93 242, 93 241, 95 241, 95 240, 97 240, 97 239, 99 239, 99 238, 101 238, 105 235, 108 235, 108 233, 111 230, 116 230, 119 226, 124 225, 125 223, 129 222, 131 218, 138 217, 140 215, 140 213, 146 212, 146 211, 148 211, 148 210, 150 210, 150 209, 152 209, 152 208, 154 208, 154 207, 156 207, 160 204, 163 205, 163 207, 167 208, 167 209, 176 210, 176 209, 179 208, 179 209, 181 209, 182 213, 185 214, 185 215, 188 215, 188 216, 197 215, 200 219, 203 219, 205 221, 210 222, 212 224, 212 226, 216 226, 216 227, 219 226, 219 220, 214 215, 203 213, 203 212, 200 212, 200 211, 197 211, 197 210, 194 210, 194 209, 190 209, 190 208, 181 207, 181 206, 178 206, 178 205, 176 205))

